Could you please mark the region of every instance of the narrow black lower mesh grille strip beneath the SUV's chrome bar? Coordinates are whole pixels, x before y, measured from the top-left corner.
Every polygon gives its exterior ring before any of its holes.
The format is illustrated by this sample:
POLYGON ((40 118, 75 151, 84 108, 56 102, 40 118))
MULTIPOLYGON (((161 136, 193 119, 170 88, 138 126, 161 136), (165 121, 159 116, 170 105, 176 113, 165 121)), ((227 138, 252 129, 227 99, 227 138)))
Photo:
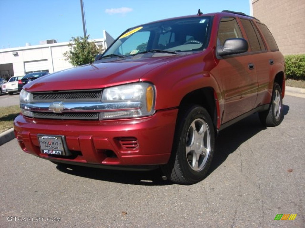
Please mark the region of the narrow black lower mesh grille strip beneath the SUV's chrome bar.
POLYGON ((33 112, 34 118, 43 119, 99 119, 98 112, 81 112, 81 113, 53 113, 53 112, 33 112))

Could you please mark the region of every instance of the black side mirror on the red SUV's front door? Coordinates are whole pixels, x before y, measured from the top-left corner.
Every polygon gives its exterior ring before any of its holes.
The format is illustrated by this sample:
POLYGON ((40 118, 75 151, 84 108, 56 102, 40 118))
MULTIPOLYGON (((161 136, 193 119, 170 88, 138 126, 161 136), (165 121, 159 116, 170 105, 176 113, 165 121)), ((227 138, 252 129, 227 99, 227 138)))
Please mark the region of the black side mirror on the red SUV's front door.
POLYGON ((242 38, 228 39, 223 46, 217 47, 219 56, 244 53, 248 50, 248 42, 242 38))

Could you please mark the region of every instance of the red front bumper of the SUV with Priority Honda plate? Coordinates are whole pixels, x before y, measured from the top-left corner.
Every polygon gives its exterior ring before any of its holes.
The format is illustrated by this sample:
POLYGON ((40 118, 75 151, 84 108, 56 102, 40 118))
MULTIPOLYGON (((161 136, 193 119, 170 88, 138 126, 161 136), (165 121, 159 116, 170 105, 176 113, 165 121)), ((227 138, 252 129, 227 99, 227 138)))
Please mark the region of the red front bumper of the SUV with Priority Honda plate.
POLYGON ((118 120, 32 119, 14 121, 23 151, 56 163, 134 169, 169 160, 177 109, 118 120))

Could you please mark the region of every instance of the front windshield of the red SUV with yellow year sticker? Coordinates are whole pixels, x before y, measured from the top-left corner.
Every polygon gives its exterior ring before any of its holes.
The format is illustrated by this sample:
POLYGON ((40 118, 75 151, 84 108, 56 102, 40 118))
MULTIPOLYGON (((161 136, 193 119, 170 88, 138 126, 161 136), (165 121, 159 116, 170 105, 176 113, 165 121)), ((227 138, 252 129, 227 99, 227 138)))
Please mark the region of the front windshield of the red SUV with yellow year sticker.
POLYGON ((133 56, 146 52, 193 53, 210 39, 211 18, 196 16, 145 24, 128 29, 102 57, 133 56), (160 51, 163 50, 163 51, 160 51))

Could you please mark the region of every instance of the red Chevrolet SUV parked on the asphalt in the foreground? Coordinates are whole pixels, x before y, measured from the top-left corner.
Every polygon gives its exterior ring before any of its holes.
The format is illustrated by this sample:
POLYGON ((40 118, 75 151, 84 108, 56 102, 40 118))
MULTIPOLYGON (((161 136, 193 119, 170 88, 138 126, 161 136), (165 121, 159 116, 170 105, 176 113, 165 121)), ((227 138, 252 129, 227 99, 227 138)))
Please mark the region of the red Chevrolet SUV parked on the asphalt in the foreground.
POLYGON ((23 87, 16 138, 56 164, 161 167, 201 181, 219 130, 259 113, 282 122, 285 62, 273 36, 242 13, 184 16, 126 30, 93 64, 23 87))

